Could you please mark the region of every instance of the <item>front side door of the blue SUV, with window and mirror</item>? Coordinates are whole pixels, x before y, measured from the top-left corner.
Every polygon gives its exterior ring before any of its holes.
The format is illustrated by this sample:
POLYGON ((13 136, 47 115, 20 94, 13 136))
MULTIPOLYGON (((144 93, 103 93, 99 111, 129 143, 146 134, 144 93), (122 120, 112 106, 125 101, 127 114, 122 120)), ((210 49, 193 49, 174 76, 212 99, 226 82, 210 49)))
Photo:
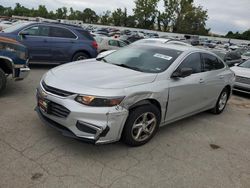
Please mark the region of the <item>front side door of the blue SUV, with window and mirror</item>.
POLYGON ((50 61, 51 46, 49 42, 49 27, 46 25, 32 25, 22 30, 26 35, 19 37, 19 41, 27 46, 31 61, 50 61))

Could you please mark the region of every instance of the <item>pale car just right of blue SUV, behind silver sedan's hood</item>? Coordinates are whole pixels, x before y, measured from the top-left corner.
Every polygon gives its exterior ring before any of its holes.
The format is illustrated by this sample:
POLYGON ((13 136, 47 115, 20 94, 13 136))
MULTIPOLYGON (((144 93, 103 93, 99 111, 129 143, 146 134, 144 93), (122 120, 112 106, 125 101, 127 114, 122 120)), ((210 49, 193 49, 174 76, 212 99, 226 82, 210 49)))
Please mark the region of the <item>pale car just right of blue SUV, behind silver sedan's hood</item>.
POLYGON ((119 39, 102 37, 96 39, 98 44, 98 53, 108 51, 108 50, 117 50, 121 47, 127 46, 127 44, 119 39))

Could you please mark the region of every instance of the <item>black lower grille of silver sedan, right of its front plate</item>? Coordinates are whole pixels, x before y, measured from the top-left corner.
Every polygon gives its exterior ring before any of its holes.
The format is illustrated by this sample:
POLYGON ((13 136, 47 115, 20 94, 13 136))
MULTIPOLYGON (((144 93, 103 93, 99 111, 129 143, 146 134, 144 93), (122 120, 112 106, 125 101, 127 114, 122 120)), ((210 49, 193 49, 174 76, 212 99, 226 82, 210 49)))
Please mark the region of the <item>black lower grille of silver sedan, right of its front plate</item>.
POLYGON ((68 110, 67 108, 65 108, 64 106, 60 104, 50 101, 49 114, 60 117, 60 118, 66 118, 70 114, 70 110, 68 110))

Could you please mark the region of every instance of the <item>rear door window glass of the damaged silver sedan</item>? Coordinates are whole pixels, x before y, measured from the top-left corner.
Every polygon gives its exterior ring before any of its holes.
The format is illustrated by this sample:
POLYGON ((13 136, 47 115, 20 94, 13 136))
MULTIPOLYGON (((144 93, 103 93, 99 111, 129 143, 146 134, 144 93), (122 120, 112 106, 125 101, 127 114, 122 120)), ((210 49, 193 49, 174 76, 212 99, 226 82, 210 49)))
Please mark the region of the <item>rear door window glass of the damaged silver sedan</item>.
POLYGON ((210 54, 202 54, 204 61, 204 71, 218 70, 224 68, 224 64, 217 57, 210 54))

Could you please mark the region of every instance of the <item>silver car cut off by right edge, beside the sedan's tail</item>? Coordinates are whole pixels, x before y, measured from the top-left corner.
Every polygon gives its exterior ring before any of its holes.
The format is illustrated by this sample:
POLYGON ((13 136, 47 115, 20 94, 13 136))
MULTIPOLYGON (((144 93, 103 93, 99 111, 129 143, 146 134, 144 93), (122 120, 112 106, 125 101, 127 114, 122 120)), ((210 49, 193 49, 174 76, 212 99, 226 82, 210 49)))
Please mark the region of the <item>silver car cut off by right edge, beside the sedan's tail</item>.
POLYGON ((231 68, 236 74, 233 90, 250 94, 250 60, 231 68))

